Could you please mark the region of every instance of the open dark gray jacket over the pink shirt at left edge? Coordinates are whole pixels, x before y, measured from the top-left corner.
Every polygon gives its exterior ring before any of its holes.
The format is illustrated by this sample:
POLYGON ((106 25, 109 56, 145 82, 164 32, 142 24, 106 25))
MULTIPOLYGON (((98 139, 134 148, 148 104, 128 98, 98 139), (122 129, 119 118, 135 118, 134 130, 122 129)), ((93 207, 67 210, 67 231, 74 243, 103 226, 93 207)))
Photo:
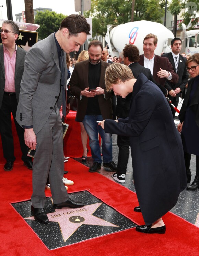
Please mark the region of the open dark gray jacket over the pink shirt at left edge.
MULTIPOLYGON (((24 71, 25 55, 26 55, 26 51, 20 47, 17 47, 15 77, 14 77, 17 101, 19 101, 20 83, 21 83, 21 79, 24 71)), ((4 54, 3 54, 3 44, 2 44, 0 45, 0 108, 2 105, 4 89, 5 89, 5 66, 4 66, 4 54)))

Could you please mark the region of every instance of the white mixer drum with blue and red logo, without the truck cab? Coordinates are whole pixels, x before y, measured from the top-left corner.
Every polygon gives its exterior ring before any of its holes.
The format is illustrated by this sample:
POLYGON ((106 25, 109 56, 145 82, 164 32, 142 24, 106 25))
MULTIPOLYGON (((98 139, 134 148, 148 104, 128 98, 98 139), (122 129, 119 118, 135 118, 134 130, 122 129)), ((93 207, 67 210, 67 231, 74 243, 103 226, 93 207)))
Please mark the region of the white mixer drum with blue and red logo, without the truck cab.
POLYGON ((105 40, 109 45, 109 55, 118 56, 124 49, 125 44, 134 44, 138 47, 140 54, 143 54, 143 39, 149 34, 155 34, 158 38, 155 54, 161 55, 162 52, 171 52, 171 40, 173 33, 160 23, 152 21, 134 21, 118 26, 108 25, 105 40))

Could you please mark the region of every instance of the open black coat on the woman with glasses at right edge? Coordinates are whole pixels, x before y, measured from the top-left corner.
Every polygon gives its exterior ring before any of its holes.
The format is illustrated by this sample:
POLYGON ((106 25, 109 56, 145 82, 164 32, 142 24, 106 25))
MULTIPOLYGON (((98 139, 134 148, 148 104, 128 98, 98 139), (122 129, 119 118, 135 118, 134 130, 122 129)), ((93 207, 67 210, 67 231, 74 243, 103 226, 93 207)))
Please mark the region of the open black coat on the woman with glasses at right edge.
MULTIPOLYGON (((179 113, 179 120, 182 123, 185 119, 185 114, 186 114, 186 110, 187 110, 187 106, 188 106, 188 102, 189 102, 189 96, 190 96, 190 92, 191 92, 191 87, 192 84, 194 83, 195 78, 191 78, 188 81, 188 89, 187 92, 185 94, 185 98, 183 101, 183 105, 180 109, 180 113, 179 113)), ((197 126, 199 127, 199 86, 191 100, 191 103, 189 105, 190 109, 194 112, 195 114, 195 121, 197 126)))

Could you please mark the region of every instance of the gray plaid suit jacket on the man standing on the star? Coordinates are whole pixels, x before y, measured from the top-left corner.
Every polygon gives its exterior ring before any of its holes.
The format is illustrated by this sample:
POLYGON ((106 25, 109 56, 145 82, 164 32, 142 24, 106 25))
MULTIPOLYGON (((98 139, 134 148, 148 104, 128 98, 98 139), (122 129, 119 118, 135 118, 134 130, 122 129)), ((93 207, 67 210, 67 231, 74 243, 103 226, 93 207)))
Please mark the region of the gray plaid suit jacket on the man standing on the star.
MULTIPOLYGON (((66 53, 64 53, 66 59, 66 53)), ((65 61, 65 85, 67 66, 65 61)), ((37 134, 57 102, 62 104, 61 71, 54 34, 34 44, 25 57, 16 120, 21 126, 33 125, 37 134)))

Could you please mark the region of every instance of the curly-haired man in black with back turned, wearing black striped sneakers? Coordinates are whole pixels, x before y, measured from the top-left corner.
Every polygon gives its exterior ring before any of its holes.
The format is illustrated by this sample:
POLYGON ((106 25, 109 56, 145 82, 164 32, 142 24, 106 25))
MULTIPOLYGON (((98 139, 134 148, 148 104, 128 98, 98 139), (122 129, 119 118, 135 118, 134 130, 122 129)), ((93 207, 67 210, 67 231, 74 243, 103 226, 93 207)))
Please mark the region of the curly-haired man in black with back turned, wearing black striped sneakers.
MULTIPOLYGON (((128 44, 123 49, 123 55, 124 55, 124 64, 128 66, 135 78, 140 73, 143 73, 147 79, 155 83, 164 93, 164 95, 167 95, 167 90, 156 83, 154 80, 150 69, 144 68, 141 66, 139 61, 139 55, 140 52, 136 45, 128 44)), ((129 116, 129 107, 130 107, 130 101, 132 98, 132 93, 129 93, 126 98, 122 98, 120 96, 117 96, 117 106, 116 106, 116 115, 118 118, 126 118, 129 116)), ((127 164, 129 160, 129 146, 130 141, 129 137, 127 136, 117 136, 117 145, 119 147, 119 154, 118 154, 118 163, 117 163, 117 173, 113 174, 113 179, 124 183, 125 182, 125 175, 127 171, 127 164)))

